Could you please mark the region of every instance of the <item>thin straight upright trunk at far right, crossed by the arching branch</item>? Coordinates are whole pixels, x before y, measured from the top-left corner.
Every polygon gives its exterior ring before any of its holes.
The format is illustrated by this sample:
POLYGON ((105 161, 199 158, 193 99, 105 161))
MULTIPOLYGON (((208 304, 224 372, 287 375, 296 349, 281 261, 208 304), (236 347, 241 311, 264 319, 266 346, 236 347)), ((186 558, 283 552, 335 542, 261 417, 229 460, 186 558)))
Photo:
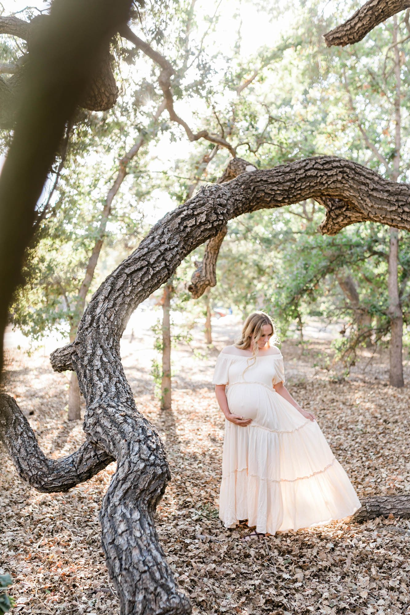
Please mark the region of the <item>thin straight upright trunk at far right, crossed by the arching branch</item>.
MULTIPOLYGON (((393 157, 392 180, 397 181, 400 175, 401 149, 401 114, 400 114, 400 54, 397 44, 397 17, 393 17, 394 68, 396 78, 395 91, 395 155, 393 157)), ((403 381, 403 311, 400 304, 398 288, 398 231, 390 228, 390 252, 388 255, 388 315, 390 316, 392 337, 390 339, 390 374, 392 386, 402 387, 403 381)))

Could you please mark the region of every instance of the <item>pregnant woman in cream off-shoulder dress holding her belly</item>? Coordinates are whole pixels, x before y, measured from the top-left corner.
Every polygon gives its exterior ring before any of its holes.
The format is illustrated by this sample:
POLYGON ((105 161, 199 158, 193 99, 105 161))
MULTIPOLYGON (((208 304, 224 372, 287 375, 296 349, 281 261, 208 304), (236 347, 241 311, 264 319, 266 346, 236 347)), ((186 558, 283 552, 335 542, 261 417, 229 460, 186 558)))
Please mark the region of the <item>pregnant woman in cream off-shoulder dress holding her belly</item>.
POLYGON ((329 523, 361 506, 315 416, 284 386, 272 336, 277 342, 268 314, 249 315, 212 379, 225 415, 219 517, 227 528, 255 526, 246 539, 329 523))

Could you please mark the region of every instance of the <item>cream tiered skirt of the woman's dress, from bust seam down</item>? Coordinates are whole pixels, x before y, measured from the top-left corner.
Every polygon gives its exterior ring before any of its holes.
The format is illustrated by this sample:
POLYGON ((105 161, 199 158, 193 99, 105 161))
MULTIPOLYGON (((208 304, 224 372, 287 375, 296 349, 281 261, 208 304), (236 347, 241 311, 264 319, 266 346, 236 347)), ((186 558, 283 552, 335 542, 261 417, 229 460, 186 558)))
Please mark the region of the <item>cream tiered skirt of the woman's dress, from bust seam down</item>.
POLYGON ((227 389, 219 517, 225 527, 247 519, 263 533, 299 530, 348 517, 361 506, 318 423, 300 414, 275 389, 236 383, 227 389))

